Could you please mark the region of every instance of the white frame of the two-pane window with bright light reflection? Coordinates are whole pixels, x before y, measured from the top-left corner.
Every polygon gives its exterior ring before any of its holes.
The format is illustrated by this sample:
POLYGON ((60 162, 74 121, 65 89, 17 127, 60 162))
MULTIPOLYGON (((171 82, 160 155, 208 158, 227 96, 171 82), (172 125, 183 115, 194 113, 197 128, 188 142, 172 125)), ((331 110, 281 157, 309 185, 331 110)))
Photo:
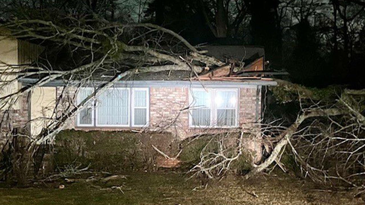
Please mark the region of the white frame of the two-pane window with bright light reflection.
MULTIPOLYGON (((210 92, 210 97, 211 97, 211 103, 210 103, 210 125, 193 125, 193 117, 192 117, 192 113, 189 111, 189 127, 191 128, 237 128, 239 125, 239 90, 238 88, 208 88, 208 89, 204 89, 204 88, 190 88, 189 89, 189 105, 193 105, 193 91, 194 90, 203 90, 206 91, 208 90, 208 92, 210 92), (234 91, 236 93, 236 105, 235 105, 235 124, 233 126, 221 126, 221 125, 217 125, 217 115, 218 115, 218 109, 216 106, 216 102, 215 102, 215 97, 216 97, 216 91, 234 91)), ((191 108, 194 109, 194 108, 191 108)))

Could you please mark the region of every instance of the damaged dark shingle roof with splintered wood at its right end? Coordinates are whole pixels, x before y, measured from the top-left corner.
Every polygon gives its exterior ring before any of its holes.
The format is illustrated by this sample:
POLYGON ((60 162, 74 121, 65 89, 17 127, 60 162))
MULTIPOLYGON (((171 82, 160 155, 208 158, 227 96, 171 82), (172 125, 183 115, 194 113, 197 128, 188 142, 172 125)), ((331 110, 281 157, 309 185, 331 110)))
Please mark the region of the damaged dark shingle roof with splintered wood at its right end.
MULTIPOLYGON (((231 68, 230 68, 230 60, 234 61, 243 61, 245 65, 248 63, 254 62, 258 58, 264 57, 265 51, 262 47, 255 47, 255 46, 206 46, 203 48, 207 50, 208 56, 218 58, 222 62, 226 62, 227 64, 221 67, 212 67, 209 70, 205 70, 199 74, 200 77, 197 77, 195 73, 187 70, 170 70, 170 71, 160 71, 160 72, 149 72, 149 73, 134 73, 130 76, 126 76, 121 81, 143 81, 143 82, 150 82, 150 81, 181 81, 181 80, 204 80, 204 81, 221 81, 220 84, 224 84, 224 82, 232 82, 232 81, 239 81, 242 82, 244 85, 248 84, 260 84, 260 85, 276 85, 275 83, 268 82, 271 79, 269 78, 262 78, 264 77, 263 74, 257 76, 256 74, 250 74, 248 77, 238 77, 235 76, 231 68), (228 66, 228 69, 227 69, 228 66), (223 71, 223 72, 222 72, 223 71), (222 73, 220 76, 217 73, 222 73), (221 78, 212 78, 207 77, 207 75, 221 78), (223 78, 222 78, 223 77, 223 78), (224 78, 227 77, 227 78, 224 78), (230 79, 231 77, 235 77, 235 79, 230 79), (200 79, 198 79, 200 78, 200 79), (255 81, 255 83, 253 83, 255 81)), ((53 70, 69 70, 72 67, 77 67, 85 64, 78 59, 78 56, 84 56, 83 53, 72 53, 72 57, 69 56, 71 53, 69 52, 68 48, 63 48, 61 50, 49 49, 46 50, 45 53, 41 55, 41 59, 45 60, 47 56, 47 61, 52 65, 53 70), (63 54, 62 54, 63 53, 63 54), (62 55, 61 55, 62 54, 62 55), (42 58, 43 57, 43 58, 42 58)), ((85 60, 85 59, 84 59, 85 60)), ((38 63, 39 63, 38 61, 38 63)), ((39 64, 38 64, 39 65, 39 64)), ((115 64, 118 66, 118 63, 115 64)), ((125 70, 125 67, 114 67, 113 70, 101 70, 98 73, 93 73, 95 77, 93 80, 95 81, 108 81, 113 78, 118 72, 122 72, 125 70)), ((30 78, 39 79, 44 76, 34 75, 30 78)), ((79 78, 82 78, 82 74, 80 74, 79 78)), ((77 80, 77 79, 76 79, 77 80)), ((28 81, 27 79, 25 81, 28 81)), ((28 81, 30 82, 30 81, 28 81)), ((34 82, 34 81, 32 81, 34 82)))

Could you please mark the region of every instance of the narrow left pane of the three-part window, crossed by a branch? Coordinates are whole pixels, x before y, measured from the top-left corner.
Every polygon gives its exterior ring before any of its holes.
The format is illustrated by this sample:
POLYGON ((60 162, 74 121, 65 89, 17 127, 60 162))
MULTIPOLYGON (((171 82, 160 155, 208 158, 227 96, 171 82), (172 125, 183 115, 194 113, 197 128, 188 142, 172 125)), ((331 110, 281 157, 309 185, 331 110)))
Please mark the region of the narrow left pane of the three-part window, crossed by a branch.
MULTIPOLYGON (((85 100, 88 96, 90 96, 93 93, 92 88, 80 88, 78 91, 78 102, 77 104, 80 104, 82 100, 85 100)), ((92 124, 92 105, 93 101, 89 102, 89 104, 85 104, 84 107, 82 107, 80 113, 78 114, 78 123, 80 125, 91 125, 92 124)))

